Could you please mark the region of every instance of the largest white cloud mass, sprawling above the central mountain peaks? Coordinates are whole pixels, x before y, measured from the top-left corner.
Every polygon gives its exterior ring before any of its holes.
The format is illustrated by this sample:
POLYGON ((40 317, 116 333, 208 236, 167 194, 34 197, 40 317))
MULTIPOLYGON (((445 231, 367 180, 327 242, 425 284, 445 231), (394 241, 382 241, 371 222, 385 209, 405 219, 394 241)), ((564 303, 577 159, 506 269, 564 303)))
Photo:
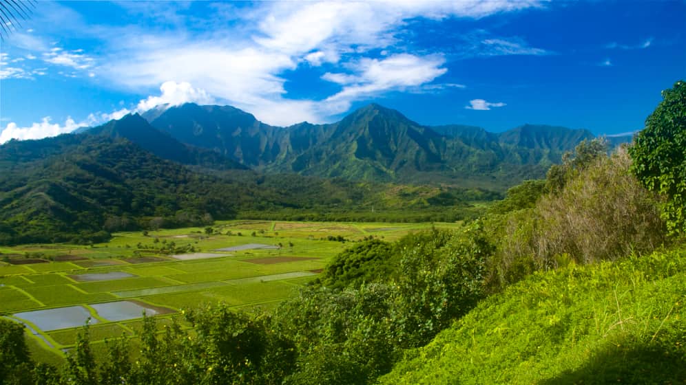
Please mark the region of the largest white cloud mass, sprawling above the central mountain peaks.
MULTIPOLYGON (((385 91, 418 91, 447 72, 441 54, 402 52, 396 34, 409 19, 480 18, 541 7, 545 1, 371 1, 264 2, 234 14, 231 27, 209 18, 218 28, 201 36, 188 30, 169 34, 127 32, 112 39, 107 63, 98 77, 127 89, 167 81, 189 83, 216 100, 260 114, 270 124, 293 124, 306 118, 328 121, 351 102, 385 91), (249 36, 245 39, 245 36, 249 36), (382 58, 378 52, 384 51, 382 58), (299 65, 333 65, 322 78, 342 85, 320 100, 291 100, 284 72, 299 65), (344 70, 345 69, 345 70, 344 70), (302 111, 285 111, 297 106, 302 111), (267 118, 269 117, 269 118, 267 118)), ((483 36, 482 36, 483 37, 483 36)), ((481 40, 485 40, 483 38, 481 40)), ((479 43, 489 54, 546 54, 512 39, 479 43), (496 53, 497 52, 497 53, 496 53)), ((434 85, 434 89, 439 87, 434 85)), ((449 86, 444 86, 448 88, 449 86)), ((429 90, 427 87, 424 90, 429 90)), ((148 104, 152 106, 154 100, 148 104)))

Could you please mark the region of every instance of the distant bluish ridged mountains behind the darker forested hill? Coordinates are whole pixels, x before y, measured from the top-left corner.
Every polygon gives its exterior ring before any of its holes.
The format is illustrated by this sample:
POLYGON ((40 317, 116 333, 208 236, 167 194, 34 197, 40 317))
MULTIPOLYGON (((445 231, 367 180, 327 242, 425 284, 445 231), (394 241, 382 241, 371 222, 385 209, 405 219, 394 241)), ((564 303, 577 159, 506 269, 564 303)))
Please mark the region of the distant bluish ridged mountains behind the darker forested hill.
POLYGON ((234 107, 183 104, 143 114, 180 142, 267 173, 504 188, 543 177, 586 130, 524 125, 504 133, 424 126, 378 104, 333 124, 264 124, 234 107))

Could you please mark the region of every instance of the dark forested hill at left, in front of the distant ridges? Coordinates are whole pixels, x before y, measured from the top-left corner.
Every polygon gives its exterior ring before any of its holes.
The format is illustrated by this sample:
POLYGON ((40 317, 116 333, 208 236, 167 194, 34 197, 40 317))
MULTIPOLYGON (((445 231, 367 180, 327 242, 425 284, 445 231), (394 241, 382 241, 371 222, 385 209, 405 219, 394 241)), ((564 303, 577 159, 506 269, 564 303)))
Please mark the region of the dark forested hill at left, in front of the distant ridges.
POLYGON ((217 151, 181 144, 139 115, 81 134, 0 146, 0 244, 83 243, 116 230, 235 217, 454 221, 477 213, 470 201, 499 197, 486 190, 260 175, 217 151))

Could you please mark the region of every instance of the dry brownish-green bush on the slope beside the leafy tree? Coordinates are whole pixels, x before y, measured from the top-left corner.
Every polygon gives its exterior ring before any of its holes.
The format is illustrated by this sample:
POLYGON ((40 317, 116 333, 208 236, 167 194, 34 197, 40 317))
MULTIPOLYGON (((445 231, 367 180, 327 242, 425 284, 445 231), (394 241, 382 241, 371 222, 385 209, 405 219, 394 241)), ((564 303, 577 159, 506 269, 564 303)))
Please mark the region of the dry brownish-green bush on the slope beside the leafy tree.
POLYGON ((632 252, 649 252, 665 242, 658 198, 628 170, 624 148, 596 159, 557 193, 517 218, 512 215, 501 242, 499 276, 515 281, 536 269, 570 261, 594 263, 632 252), (521 270, 521 271, 519 271, 521 270))

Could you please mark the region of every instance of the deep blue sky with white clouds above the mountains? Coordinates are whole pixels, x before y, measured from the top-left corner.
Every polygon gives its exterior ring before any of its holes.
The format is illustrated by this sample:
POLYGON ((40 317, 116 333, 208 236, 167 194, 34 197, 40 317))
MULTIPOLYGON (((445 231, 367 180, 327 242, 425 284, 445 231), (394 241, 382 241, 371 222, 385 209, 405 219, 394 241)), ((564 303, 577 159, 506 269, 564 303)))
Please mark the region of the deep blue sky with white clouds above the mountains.
POLYGON ((39 1, 6 27, 0 143, 185 102, 617 135, 686 78, 686 1, 39 1))

